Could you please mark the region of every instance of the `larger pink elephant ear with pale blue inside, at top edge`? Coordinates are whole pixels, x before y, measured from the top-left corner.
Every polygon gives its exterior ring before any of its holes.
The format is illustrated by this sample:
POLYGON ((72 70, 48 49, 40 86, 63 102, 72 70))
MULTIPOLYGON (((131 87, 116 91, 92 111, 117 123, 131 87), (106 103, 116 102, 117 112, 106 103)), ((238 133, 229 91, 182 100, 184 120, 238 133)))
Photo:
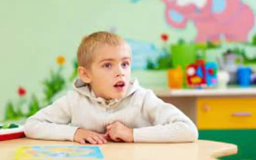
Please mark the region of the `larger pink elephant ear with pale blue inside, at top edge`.
POLYGON ((236 13, 239 12, 240 0, 212 0, 212 15, 213 17, 223 23, 235 18, 236 13))

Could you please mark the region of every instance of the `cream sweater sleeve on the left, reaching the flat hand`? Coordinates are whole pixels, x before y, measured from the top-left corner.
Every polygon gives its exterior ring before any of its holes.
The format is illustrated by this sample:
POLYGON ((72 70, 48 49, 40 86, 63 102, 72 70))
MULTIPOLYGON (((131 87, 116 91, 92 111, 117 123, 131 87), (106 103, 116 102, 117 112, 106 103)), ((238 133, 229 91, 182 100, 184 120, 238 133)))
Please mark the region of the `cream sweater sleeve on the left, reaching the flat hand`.
POLYGON ((78 127, 69 126, 71 111, 67 95, 27 119, 24 133, 29 138, 73 140, 78 127))

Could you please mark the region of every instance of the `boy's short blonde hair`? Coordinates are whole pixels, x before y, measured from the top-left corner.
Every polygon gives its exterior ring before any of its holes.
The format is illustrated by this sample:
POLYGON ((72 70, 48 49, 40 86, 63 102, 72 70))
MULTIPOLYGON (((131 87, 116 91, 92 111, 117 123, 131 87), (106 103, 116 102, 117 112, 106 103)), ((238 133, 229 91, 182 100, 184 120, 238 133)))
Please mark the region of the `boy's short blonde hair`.
POLYGON ((93 53, 97 47, 100 45, 111 45, 111 46, 121 46, 125 45, 130 48, 128 43, 118 35, 110 33, 107 31, 94 32, 88 36, 85 36, 80 43, 77 50, 77 61, 78 66, 83 66, 85 68, 90 68, 93 62, 93 53))

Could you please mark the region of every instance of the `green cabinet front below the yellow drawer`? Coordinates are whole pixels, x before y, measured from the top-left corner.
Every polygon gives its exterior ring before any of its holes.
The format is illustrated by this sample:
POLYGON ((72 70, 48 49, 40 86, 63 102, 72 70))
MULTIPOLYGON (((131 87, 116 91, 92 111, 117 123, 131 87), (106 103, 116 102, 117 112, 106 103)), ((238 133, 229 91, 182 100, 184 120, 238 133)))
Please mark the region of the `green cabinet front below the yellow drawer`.
POLYGON ((199 139, 237 145, 238 154, 221 160, 256 160, 256 130, 199 130, 199 139))

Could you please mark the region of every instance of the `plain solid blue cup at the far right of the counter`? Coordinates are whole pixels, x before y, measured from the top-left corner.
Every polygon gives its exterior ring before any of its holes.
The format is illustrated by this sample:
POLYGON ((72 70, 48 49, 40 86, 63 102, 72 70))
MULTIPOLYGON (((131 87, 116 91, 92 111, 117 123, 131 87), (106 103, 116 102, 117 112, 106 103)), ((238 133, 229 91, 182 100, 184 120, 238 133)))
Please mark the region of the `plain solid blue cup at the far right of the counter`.
POLYGON ((252 69, 250 67, 239 67, 237 69, 237 81, 242 87, 248 87, 251 85, 252 69))

